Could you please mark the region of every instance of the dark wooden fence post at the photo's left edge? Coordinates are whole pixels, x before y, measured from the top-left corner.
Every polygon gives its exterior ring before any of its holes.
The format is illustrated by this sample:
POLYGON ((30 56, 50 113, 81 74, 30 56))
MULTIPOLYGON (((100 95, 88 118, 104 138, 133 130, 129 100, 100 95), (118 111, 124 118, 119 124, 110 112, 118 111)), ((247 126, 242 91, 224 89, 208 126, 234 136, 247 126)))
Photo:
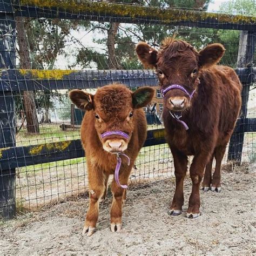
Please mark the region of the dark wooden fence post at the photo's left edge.
MULTIPOLYGON (((15 19, 11 0, 0 0, 0 69, 15 68, 15 19)), ((0 153, 15 146, 15 98, 0 87, 0 153)), ((0 165, 0 217, 15 217, 15 169, 0 165)))

